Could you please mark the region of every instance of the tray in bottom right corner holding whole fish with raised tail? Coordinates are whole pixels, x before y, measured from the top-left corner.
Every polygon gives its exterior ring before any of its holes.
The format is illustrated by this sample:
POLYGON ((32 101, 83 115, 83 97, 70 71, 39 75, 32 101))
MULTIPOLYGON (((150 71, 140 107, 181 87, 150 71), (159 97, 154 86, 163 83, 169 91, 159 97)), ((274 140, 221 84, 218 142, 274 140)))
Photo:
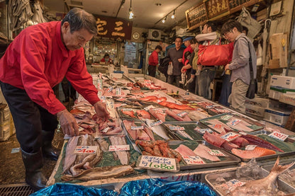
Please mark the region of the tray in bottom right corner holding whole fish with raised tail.
POLYGON ((294 195, 295 189, 278 179, 278 175, 294 163, 279 165, 278 157, 267 173, 251 160, 236 171, 208 174, 205 179, 220 195, 294 195))

